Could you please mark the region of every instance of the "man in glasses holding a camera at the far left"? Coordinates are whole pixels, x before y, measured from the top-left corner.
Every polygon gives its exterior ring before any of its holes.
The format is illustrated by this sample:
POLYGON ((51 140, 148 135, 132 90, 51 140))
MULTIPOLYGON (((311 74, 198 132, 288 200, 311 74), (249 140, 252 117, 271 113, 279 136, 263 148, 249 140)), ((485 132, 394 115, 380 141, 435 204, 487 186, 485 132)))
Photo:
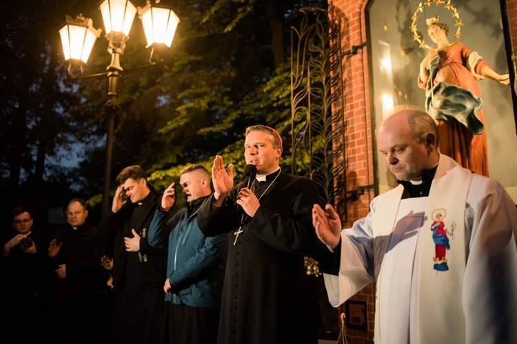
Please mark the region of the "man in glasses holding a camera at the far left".
POLYGON ((12 212, 12 233, 2 246, 5 273, 1 343, 37 343, 44 334, 45 237, 34 234, 27 208, 12 212), (23 319, 23 321, 22 321, 23 319), (30 326, 30 331, 26 327, 30 326))

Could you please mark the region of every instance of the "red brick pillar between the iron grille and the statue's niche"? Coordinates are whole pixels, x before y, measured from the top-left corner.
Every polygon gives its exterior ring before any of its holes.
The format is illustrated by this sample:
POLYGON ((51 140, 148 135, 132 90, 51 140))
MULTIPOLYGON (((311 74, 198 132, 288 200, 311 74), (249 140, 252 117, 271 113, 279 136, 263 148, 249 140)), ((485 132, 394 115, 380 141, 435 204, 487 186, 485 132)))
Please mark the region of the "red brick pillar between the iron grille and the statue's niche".
MULTIPOLYGON (((517 1, 517 0, 516 0, 517 1)), ((347 191, 357 186, 374 184, 374 161, 372 149, 372 122, 368 76, 368 51, 361 47, 354 54, 353 47, 366 41, 364 6, 366 0, 330 0, 329 10, 341 19, 343 57, 343 83, 345 90, 345 159, 347 191)), ((366 189, 358 200, 347 204, 347 223, 365 217, 369 202, 374 197, 373 189, 366 189)), ((367 302, 368 331, 347 329, 348 343, 373 343, 374 338, 374 286, 367 286, 352 299, 367 302)), ((344 305, 340 312, 345 312, 344 305)))

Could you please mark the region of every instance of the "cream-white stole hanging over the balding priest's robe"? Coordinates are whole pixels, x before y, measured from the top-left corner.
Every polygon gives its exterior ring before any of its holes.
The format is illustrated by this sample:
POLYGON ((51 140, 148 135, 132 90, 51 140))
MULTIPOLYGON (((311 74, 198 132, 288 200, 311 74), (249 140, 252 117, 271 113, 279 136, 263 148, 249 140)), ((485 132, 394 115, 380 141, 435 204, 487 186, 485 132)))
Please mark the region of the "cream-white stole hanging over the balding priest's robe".
MULTIPOLYGON (((418 282, 416 296, 416 343, 465 343, 465 315, 462 307, 463 277, 465 275, 465 205, 472 173, 463 169, 451 158, 441 155, 429 191, 425 207, 423 227, 418 233, 416 260, 418 261, 418 282), (444 211, 445 210, 445 211, 444 211), (450 249, 446 251, 449 270, 434 268, 435 243, 431 230, 436 213, 442 213, 445 228, 454 235, 447 235, 450 249)), ((381 264, 376 271, 376 299, 383 297, 382 259, 388 244, 380 241, 389 237, 395 226, 403 186, 388 191, 379 198, 373 220, 375 261, 381 264), (376 240, 377 239, 377 240, 376 240)), ((385 277, 389 279, 389 276, 385 277)), ((408 296, 409 297, 409 296, 408 296)), ((381 310, 376 302, 375 338, 380 336, 381 310)), ((389 310, 387 310, 389 312, 389 310)), ((414 327, 414 326, 412 326, 414 327)))

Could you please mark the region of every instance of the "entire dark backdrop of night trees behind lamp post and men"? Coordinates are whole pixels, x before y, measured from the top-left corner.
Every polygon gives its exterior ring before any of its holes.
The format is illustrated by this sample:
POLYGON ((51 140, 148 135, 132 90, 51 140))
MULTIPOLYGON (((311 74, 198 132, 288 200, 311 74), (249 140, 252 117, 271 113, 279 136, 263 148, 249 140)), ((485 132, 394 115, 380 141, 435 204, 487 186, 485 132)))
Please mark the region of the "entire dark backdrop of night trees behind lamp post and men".
MULTIPOLYGON (((92 18, 94 28, 103 28, 98 2, 32 1, 37 6, 28 2, 12 3, 0 23, 5 33, 0 83, 9 89, 0 96, 0 186, 9 195, 18 194, 23 183, 37 184, 39 195, 50 199, 45 204, 59 204, 61 196, 43 189, 48 187, 45 181, 54 185, 61 180, 63 189, 98 204, 107 78, 70 78, 57 33, 65 14, 83 13, 92 18), (74 148, 78 143, 81 151, 74 148), (78 166, 63 168, 59 160, 69 158, 72 151, 79 155, 78 166)), ((280 131, 285 139, 282 166, 290 170, 290 65, 288 61, 278 65, 274 56, 287 55, 290 42, 285 38, 290 36, 290 25, 296 24, 292 14, 305 6, 326 6, 326 1, 162 0, 161 4, 174 8, 181 22, 172 47, 156 47, 153 56, 159 62, 147 67, 150 49, 144 48, 140 20, 134 20, 121 56, 121 111, 115 115, 111 179, 124 166, 140 164, 160 190, 179 180, 183 166, 203 164, 210 170, 214 155, 221 154, 225 164, 234 163, 239 180, 245 164, 243 133, 259 123, 280 131), (277 30, 284 37, 281 45, 272 44, 277 30)), ((103 34, 83 76, 101 74, 110 64, 103 34)))

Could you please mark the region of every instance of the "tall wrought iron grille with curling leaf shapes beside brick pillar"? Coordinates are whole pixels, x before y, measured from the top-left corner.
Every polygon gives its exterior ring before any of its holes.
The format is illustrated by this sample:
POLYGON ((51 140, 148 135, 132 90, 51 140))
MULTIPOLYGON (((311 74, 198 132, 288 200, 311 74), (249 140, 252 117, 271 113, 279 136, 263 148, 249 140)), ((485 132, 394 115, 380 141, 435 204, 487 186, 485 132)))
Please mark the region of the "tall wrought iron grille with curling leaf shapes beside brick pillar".
POLYGON ((321 204, 346 217, 341 20, 303 8, 291 28, 292 173, 311 178, 321 204))

